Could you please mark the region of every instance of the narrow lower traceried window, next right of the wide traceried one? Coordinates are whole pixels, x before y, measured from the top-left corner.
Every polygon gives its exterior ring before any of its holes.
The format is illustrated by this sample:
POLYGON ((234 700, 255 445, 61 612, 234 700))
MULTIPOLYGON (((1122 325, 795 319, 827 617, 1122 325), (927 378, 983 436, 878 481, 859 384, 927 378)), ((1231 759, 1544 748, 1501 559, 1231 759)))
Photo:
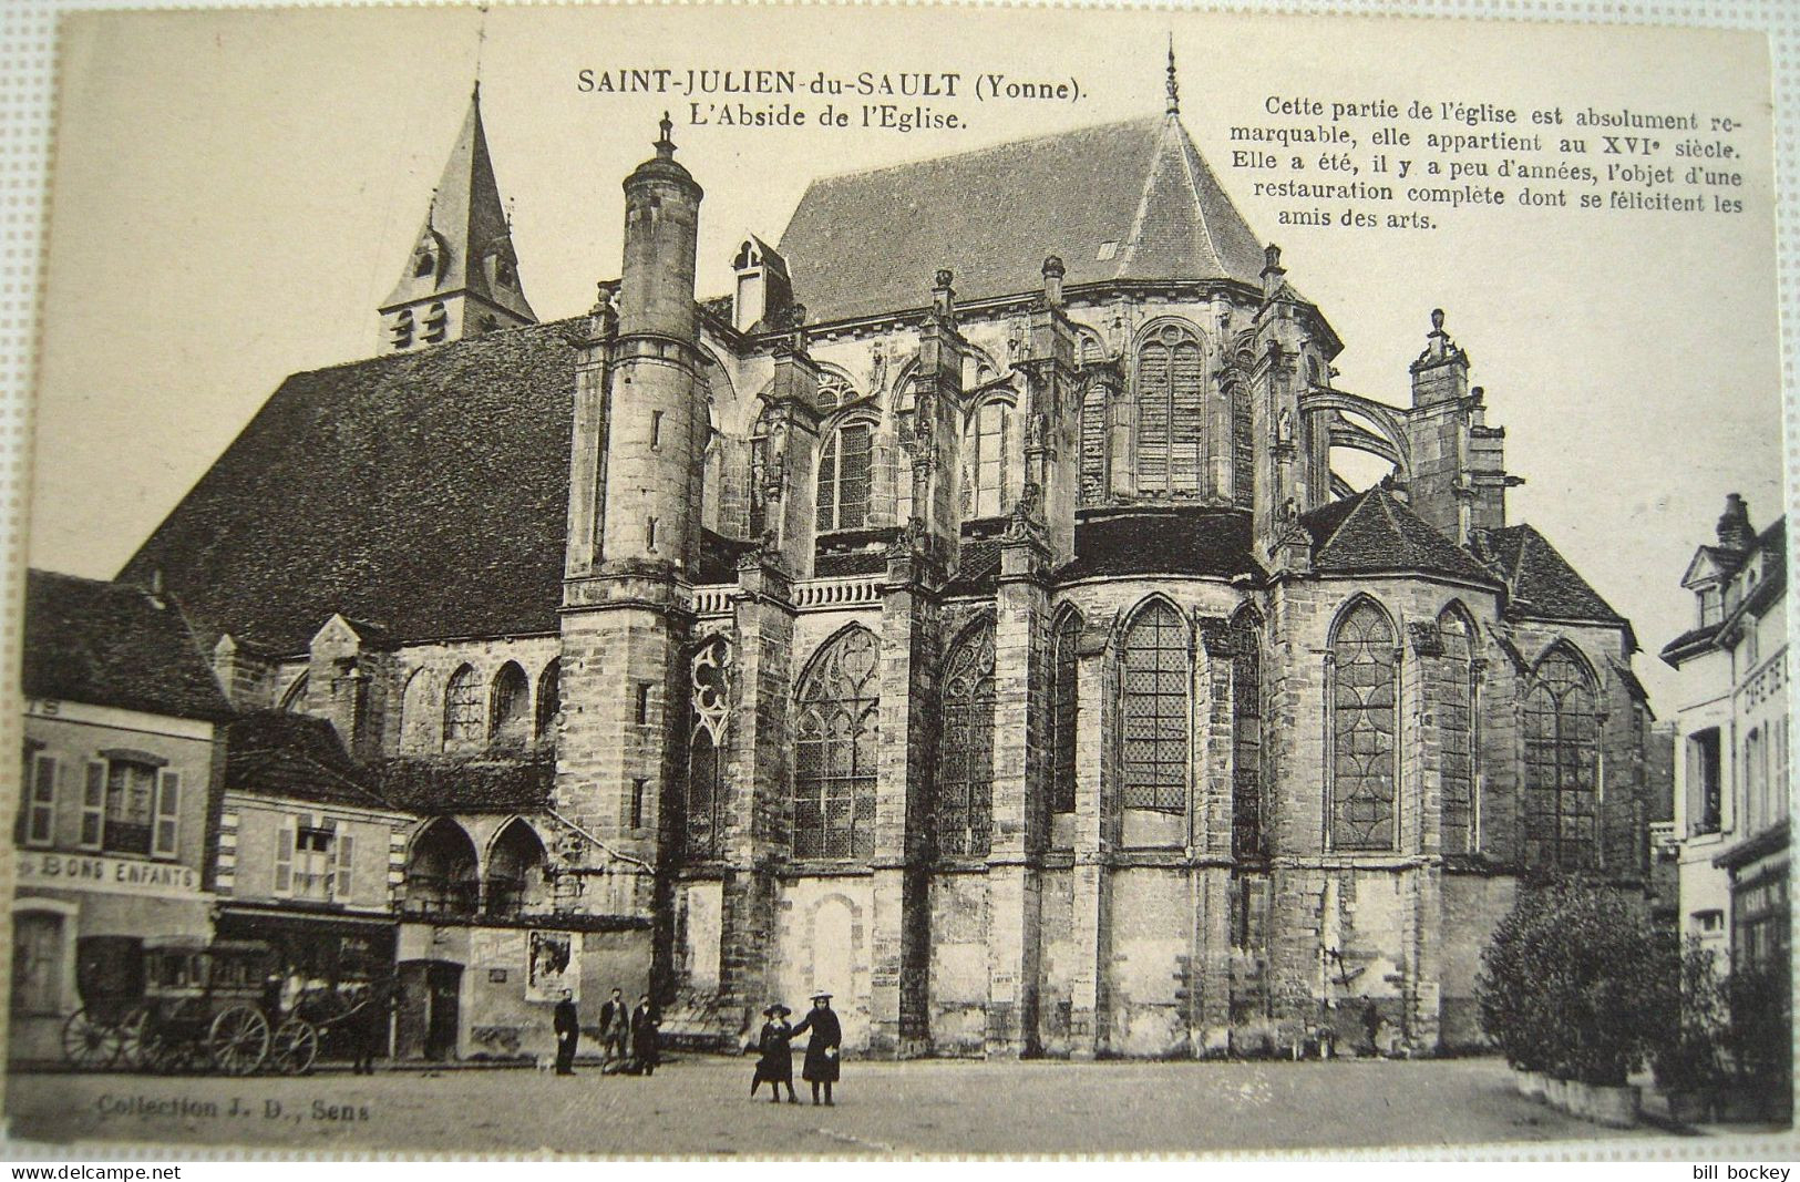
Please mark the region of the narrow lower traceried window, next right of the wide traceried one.
POLYGON ((963 633, 943 664, 938 855, 985 858, 994 837, 994 621, 963 633))

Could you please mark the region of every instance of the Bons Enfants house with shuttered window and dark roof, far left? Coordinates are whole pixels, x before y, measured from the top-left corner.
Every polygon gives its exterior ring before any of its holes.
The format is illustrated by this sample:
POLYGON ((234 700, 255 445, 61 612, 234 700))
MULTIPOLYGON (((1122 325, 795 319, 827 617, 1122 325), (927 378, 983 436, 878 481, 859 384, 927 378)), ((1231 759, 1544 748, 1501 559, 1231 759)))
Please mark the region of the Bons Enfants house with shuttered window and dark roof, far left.
POLYGON ((229 707, 139 587, 32 570, 23 649, 7 1056, 54 1061, 70 1015, 140 984, 144 937, 212 932, 229 707))

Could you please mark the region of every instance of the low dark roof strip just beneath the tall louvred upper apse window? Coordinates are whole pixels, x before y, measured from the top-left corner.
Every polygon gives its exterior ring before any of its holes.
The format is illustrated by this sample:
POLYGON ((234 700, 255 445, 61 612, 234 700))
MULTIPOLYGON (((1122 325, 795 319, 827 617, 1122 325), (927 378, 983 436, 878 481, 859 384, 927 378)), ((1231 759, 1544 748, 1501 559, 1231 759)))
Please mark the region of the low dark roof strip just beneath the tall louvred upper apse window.
POLYGON ((1116 509, 1075 525, 1075 561, 1058 579, 1125 574, 1260 576, 1251 522, 1235 509, 1116 509))

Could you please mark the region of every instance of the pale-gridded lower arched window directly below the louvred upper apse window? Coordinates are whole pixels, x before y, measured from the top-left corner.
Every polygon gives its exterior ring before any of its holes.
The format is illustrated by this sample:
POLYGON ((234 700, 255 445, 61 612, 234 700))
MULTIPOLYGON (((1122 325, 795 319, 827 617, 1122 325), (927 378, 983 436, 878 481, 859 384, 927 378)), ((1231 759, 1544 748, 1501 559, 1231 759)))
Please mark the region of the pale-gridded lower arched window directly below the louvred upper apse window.
POLYGON ((1125 630, 1120 765, 1125 808, 1179 813, 1188 797, 1188 624, 1157 599, 1125 630))

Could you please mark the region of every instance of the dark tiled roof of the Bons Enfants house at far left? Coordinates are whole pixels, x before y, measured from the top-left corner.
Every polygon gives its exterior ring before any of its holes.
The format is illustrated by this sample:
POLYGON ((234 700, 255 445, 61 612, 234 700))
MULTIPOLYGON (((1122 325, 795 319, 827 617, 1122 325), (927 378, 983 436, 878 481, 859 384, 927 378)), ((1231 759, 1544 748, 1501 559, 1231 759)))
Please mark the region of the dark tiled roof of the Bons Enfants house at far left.
POLYGON ((32 570, 25 581, 27 698, 220 721, 230 707, 169 595, 32 570))

